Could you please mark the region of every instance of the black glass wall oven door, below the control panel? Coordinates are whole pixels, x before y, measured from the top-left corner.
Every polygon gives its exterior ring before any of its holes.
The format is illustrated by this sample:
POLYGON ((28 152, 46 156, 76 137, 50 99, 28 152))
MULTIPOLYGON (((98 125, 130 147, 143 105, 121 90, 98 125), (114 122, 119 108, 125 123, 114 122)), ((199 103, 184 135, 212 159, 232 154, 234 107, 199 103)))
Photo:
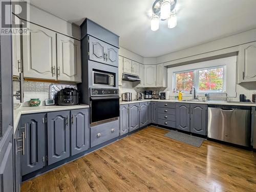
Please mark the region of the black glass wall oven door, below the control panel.
POLYGON ((119 117, 119 97, 91 97, 90 110, 90 123, 92 127, 102 123, 115 121, 119 117))

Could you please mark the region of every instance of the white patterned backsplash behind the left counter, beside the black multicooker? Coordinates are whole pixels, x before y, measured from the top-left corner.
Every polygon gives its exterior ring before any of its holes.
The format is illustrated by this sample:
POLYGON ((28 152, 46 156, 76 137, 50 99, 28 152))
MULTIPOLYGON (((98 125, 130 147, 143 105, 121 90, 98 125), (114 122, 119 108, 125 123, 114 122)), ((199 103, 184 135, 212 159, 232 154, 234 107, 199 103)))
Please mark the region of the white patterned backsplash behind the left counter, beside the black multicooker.
MULTIPOLYGON (((49 99, 49 87, 51 84, 53 83, 24 81, 24 84, 23 84, 24 103, 22 105, 29 106, 28 102, 32 98, 38 98, 41 101, 40 105, 45 105, 45 100, 49 99)), ((15 94, 16 91, 18 90, 19 90, 19 82, 13 82, 13 93, 15 94)), ((13 102, 19 103, 19 100, 17 100, 14 97, 13 102)))

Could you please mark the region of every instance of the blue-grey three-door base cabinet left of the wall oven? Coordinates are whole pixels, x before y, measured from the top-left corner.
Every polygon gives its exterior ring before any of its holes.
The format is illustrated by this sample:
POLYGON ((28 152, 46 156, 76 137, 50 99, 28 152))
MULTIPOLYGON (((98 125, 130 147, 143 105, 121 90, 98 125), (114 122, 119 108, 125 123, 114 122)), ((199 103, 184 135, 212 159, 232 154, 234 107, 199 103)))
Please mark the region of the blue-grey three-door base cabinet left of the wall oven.
POLYGON ((89 109, 22 115, 18 129, 24 134, 22 176, 90 147, 89 109))

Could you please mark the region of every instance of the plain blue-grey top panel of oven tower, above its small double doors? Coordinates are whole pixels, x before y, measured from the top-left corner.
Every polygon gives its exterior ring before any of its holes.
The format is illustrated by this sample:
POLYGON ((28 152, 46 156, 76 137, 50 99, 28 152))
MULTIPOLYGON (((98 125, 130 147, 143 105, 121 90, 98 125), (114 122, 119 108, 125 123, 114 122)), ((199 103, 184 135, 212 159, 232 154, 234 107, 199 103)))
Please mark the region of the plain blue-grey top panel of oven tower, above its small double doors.
POLYGON ((119 36, 86 18, 80 26, 81 39, 91 35, 115 47, 119 47, 119 36))

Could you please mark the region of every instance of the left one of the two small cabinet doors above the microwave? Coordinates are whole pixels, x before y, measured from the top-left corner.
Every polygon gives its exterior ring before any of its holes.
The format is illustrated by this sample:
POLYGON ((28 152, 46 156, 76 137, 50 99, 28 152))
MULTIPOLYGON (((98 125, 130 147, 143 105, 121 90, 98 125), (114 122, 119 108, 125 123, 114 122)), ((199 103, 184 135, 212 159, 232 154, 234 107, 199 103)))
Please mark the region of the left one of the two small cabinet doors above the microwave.
POLYGON ((97 62, 105 62, 105 53, 104 47, 105 44, 103 41, 96 39, 94 37, 89 37, 89 59, 97 62))

